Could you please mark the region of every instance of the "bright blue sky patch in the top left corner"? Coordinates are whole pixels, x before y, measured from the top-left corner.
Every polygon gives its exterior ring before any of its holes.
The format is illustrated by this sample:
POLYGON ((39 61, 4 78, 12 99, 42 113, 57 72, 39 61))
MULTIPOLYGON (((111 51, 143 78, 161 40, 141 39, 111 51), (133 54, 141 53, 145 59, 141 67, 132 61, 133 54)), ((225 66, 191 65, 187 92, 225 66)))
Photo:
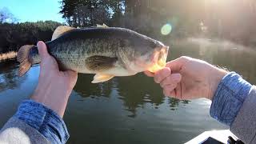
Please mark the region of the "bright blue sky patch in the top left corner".
POLYGON ((37 22, 52 20, 65 22, 61 10, 60 0, 0 0, 0 9, 7 8, 18 22, 37 22))

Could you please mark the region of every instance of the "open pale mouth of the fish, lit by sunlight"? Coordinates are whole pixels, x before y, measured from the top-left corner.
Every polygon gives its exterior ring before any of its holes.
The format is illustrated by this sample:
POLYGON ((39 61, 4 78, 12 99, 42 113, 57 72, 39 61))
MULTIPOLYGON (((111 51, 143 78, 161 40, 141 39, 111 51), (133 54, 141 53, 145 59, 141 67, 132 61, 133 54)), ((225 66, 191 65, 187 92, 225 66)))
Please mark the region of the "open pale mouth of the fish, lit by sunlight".
POLYGON ((168 55, 169 46, 157 47, 152 55, 152 65, 149 67, 149 71, 155 73, 166 66, 166 59, 168 55))

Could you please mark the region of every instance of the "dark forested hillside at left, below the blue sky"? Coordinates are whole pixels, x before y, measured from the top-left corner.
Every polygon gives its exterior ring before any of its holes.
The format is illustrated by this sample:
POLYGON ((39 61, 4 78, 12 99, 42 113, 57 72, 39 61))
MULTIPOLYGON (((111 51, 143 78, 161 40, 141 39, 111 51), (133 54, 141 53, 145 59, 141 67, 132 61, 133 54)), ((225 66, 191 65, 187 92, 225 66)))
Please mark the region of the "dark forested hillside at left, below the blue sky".
POLYGON ((24 22, 24 23, 1 23, 0 24, 0 53, 17 51, 20 46, 35 44, 39 40, 50 41, 57 26, 61 23, 24 22))

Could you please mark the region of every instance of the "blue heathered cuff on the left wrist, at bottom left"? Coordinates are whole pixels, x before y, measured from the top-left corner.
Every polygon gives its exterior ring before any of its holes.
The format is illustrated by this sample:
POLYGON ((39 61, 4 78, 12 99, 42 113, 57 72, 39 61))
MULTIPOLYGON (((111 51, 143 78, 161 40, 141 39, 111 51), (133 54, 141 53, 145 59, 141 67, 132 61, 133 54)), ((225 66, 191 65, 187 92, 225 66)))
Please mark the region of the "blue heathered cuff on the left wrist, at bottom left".
POLYGON ((14 117, 38 130, 52 143, 66 143, 70 137, 62 118, 53 110, 33 100, 23 101, 14 117))

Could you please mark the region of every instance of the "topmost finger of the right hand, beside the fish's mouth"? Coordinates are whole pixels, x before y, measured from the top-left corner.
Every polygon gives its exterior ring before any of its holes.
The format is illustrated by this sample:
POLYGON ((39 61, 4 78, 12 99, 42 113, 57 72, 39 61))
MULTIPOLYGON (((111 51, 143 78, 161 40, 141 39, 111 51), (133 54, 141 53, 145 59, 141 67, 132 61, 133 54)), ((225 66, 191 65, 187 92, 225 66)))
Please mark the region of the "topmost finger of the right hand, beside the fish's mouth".
POLYGON ((186 64, 186 62, 189 62, 189 57, 180 57, 177 59, 174 59, 173 61, 167 62, 166 67, 170 67, 170 70, 172 71, 180 71, 182 70, 182 66, 186 64))

